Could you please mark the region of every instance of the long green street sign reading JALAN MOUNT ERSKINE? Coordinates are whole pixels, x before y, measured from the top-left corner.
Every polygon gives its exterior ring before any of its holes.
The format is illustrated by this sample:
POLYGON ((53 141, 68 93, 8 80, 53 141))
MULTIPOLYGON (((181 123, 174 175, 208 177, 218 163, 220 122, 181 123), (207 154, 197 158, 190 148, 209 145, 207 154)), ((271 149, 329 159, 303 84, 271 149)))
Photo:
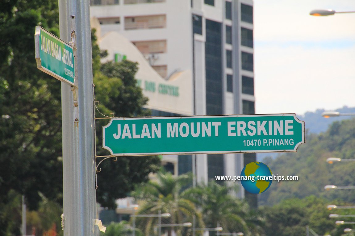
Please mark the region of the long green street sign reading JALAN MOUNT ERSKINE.
POLYGON ((292 152, 305 143, 295 114, 112 118, 102 127, 111 155, 292 152))

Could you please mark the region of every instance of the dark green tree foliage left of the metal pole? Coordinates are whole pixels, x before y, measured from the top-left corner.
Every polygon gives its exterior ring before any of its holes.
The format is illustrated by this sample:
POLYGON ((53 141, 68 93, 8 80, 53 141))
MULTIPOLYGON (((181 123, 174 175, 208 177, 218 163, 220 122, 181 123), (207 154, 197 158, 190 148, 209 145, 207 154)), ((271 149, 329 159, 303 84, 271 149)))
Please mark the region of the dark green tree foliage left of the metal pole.
POLYGON ((35 25, 58 34, 58 1, 1 4, 0 201, 14 189, 29 208, 39 191, 60 201, 62 188, 60 83, 37 69, 35 25))

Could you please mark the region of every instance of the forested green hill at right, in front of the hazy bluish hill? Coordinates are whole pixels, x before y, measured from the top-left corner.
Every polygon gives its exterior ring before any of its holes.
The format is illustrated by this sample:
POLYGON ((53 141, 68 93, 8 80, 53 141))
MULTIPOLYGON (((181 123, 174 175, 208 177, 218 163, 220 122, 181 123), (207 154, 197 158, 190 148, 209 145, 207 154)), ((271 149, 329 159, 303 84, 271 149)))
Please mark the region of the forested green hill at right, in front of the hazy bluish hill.
MULTIPOLYGON (((316 113, 322 113, 322 110, 316 113)), ((307 126, 312 127, 310 123, 312 122, 306 121, 306 129, 307 126)), ((271 187, 258 196, 260 205, 271 206, 287 198, 305 198, 310 195, 355 202, 355 189, 324 190, 324 186, 329 184, 355 186, 355 162, 326 162, 328 157, 355 159, 355 119, 335 121, 325 132, 319 134, 309 131, 310 129, 306 134, 306 143, 302 144, 297 152, 283 153, 274 159, 267 157, 262 160, 273 174, 298 175, 299 180, 279 183, 273 181, 271 187)))

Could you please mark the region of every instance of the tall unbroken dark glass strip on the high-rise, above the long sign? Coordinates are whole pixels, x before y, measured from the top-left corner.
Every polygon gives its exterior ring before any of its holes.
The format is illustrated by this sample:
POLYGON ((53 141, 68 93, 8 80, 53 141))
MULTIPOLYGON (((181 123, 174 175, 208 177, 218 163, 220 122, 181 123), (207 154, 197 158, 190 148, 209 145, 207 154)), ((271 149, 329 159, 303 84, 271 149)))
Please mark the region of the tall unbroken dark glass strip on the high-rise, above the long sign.
POLYGON ((206 115, 223 112, 222 24, 206 19, 206 115))

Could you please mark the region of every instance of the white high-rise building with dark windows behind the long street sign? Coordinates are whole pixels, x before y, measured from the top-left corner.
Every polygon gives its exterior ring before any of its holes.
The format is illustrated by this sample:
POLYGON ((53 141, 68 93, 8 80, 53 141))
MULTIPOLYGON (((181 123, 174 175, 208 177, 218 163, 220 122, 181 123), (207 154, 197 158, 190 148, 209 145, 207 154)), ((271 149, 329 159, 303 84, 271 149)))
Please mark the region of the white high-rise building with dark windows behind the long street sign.
MULTIPOLYGON (((255 113, 252 0, 91 0, 90 4, 91 17, 100 23, 100 37, 116 31, 127 38, 166 83, 176 73, 190 71, 191 81, 180 88, 179 96, 191 91, 186 102, 191 112, 153 109, 153 115, 255 113)), ((197 183, 207 183, 215 175, 239 175, 255 157, 203 154, 176 156, 176 160, 179 173, 193 171, 197 183)), ((239 197, 244 197, 244 189, 240 190, 239 197)), ((256 206, 252 196, 247 198, 256 206)))

